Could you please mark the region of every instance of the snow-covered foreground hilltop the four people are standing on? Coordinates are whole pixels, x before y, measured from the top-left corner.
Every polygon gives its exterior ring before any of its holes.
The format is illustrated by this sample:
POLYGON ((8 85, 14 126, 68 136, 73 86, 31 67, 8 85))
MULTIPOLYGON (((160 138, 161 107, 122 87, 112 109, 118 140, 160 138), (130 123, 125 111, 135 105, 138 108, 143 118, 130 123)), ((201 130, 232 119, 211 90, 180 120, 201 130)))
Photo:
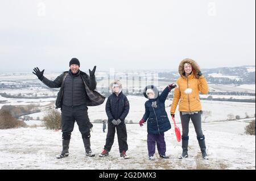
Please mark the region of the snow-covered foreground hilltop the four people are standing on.
MULTIPOLYGON (((61 151, 61 132, 44 127, 0 130, 0 169, 255 169, 255 136, 243 134, 248 123, 229 121, 204 123, 209 160, 203 160, 193 125, 189 133, 189 157, 179 160, 181 142, 174 129, 166 132, 167 155, 170 159, 147 158, 146 125, 127 124, 130 159, 119 157, 117 136, 109 157, 85 157, 77 125, 72 133, 69 157, 55 159, 61 151)), ((179 127, 180 124, 177 124, 179 127)), ((173 126, 173 124, 172 124, 173 126)), ((102 124, 94 124, 91 144, 97 155, 105 145, 102 124)))

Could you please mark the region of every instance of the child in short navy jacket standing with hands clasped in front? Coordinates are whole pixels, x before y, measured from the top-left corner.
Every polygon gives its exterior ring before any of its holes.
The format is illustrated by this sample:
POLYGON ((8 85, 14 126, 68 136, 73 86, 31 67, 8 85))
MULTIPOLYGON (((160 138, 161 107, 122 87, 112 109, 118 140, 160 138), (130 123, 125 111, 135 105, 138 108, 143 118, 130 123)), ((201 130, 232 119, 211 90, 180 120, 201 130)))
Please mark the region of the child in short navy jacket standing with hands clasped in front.
POLYGON ((110 85, 110 89, 113 91, 113 94, 109 96, 108 101, 106 102, 106 114, 108 115, 108 134, 106 136, 106 145, 104 146, 104 150, 99 156, 106 157, 109 155, 109 151, 111 150, 114 143, 115 129, 117 129, 120 157, 126 159, 129 157, 126 155, 128 145, 125 118, 129 113, 130 104, 122 92, 122 84, 120 81, 114 81, 110 85))

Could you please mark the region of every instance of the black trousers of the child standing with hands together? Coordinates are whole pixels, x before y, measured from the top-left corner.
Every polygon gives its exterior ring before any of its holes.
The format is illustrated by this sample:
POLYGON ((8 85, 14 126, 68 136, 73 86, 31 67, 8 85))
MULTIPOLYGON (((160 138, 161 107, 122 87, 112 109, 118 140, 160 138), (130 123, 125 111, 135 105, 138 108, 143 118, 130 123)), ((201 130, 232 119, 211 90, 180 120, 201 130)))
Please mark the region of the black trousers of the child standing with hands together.
POLYGON ((128 145, 125 121, 122 121, 122 123, 117 126, 114 125, 111 121, 108 121, 108 134, 106 137, 106 145, 104 146, 104 149, 107 151, 111 150, 114 144, 115 129, 117 129, 119 152, 122 153, 122 151, 127 151, 128 145))

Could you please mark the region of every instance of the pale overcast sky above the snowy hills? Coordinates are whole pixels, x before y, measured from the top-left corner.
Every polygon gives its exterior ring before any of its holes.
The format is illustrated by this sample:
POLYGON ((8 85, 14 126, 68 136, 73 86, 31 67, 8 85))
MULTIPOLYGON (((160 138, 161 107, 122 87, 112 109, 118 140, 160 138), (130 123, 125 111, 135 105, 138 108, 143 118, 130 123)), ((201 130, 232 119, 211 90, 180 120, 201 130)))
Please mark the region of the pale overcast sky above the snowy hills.
POLYGON ((1 0, 0 73, 255 65, 255 0, 1 0))

